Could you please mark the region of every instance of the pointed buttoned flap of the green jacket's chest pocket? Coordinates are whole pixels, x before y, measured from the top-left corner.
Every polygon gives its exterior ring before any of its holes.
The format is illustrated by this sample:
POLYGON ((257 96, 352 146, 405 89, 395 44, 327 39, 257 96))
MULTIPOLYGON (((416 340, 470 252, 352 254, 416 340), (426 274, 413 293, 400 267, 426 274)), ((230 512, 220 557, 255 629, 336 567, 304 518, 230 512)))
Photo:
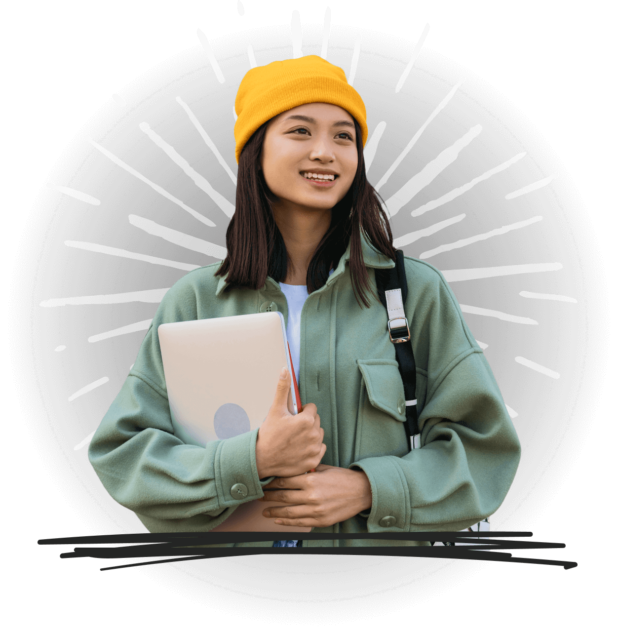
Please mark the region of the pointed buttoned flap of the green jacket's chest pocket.
POLYGON ((397 361, 376 360, 357 361, 362 377, 365 379, 369 401, 376 409, 405 422, 404 383, 399 373, 397 361), (404 412, 399 413, 399 403, 404 403, 404 412))

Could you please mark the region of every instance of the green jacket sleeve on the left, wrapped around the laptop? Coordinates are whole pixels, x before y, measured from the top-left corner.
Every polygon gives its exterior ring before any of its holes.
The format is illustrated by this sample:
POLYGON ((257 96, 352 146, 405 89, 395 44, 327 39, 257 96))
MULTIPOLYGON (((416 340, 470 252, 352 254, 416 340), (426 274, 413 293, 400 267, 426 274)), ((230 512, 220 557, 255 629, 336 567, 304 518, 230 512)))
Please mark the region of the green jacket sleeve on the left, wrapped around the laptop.
POLYGON ((159 305, 133 369, 90 441, 88 458, 114 501, 135 512, 150 532, 201 532, 240 503, 263 497, 262 487, 273 477, 257 475, 257 429, 206 448, 173 434, 157 328, 197 318, 182 311, 183 298, 174 290, 159 305), (230 492, 238 483, 249 491, 242 501, 230 492))

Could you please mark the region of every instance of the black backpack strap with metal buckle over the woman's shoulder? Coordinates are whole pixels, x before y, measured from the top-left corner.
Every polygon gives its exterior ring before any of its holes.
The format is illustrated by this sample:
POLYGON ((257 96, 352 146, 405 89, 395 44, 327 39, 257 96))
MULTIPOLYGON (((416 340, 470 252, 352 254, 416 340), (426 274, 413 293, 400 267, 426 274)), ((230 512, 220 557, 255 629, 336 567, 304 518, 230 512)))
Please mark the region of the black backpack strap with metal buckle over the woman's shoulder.
POLYGON ((375 269, 378 297, 388 313, 386 329, 395 345, 395 358, 399 363, 399 373, 404 383, 405 433, 408 450, 412 450, 412 437, 419 433, 416 412, 416 363, 410 340, 409 323, 404 313, 408 294, 405 278, 404 253, 399 249, 394 268, 375 269))

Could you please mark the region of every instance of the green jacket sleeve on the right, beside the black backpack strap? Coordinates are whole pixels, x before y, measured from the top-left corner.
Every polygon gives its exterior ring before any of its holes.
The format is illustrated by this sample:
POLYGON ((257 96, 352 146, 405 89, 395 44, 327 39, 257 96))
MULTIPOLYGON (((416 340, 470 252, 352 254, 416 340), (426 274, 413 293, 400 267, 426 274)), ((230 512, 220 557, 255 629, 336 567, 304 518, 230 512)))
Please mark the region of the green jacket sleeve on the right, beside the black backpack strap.
MULTIPOLYGON (((433 268, 433 266, 431 266, 433 268)), ((414 313, 421 445, 404 456, 359 460, 371 484, 369 532, 455 532, 495 513, 509 492, 521 443, 490 365, 455 295, 439 275, 414 313), (417 350, 419 354, 417 355, 417 350), (383 517, 395 526, 382 527, 383 517)), ((412 303, 411 303, 412 302, 412 303)))

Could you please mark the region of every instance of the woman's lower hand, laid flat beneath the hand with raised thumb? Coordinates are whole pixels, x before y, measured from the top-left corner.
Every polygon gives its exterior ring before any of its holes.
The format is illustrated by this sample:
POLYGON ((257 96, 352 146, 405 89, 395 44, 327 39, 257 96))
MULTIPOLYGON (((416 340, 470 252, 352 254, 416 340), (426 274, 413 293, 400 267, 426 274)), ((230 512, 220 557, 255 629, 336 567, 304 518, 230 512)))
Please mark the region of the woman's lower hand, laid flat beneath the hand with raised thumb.
POLYGON ((262 501, 290 506, 264 508, 264 517, 298 527, 329 527, 371 508, 371 485, 362 470, 319 464, 316 472, 278 477, 264 486, 262 501), (285 490, 283 490, 285 488, 285 490))

